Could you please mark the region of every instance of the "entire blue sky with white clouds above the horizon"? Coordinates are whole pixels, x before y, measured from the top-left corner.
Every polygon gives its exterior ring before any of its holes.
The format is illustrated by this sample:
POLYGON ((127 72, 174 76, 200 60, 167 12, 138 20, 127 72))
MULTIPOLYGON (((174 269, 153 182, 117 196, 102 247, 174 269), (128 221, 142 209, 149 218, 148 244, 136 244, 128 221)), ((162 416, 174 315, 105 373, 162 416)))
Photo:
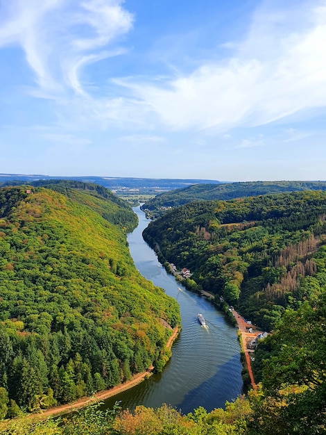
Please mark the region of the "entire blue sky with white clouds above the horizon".
POLYGON ((325 180, 326 0, 0 0, 0 172, 325 180))

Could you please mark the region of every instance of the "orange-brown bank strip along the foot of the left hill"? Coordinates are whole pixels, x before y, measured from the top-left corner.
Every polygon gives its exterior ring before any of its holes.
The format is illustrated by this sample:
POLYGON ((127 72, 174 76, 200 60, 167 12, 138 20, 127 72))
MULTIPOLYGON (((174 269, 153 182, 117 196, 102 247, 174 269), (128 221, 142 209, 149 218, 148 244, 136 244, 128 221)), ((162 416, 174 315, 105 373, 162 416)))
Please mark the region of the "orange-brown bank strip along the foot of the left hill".
MULTIPOLYGON (((173 334, 169 338, 169 340, 166 343, 166 348, 170 349, 173 345, 173 342, 178 337, 180 333, 180 327, 175 327, 173 329, 173 334)), ((117 395, 119 393, 122 393, 123 391, 128 390, 129 388, 132 388, 136 385, 138 385, 140 382, 144 381, 144 379, 147 379, 151 375, 153 375, 153 369, 148 368, 146 372, 137 373, 137 375, 134 375, 130 381, 123 382, 123 384, 114 386, 110 388, 109 390, 103 390, 98 391, 98 393, 95 393, 91 397, 82 397, 79 400, 76 400, 76 402, 67 403, 60 405, 58 407, 53 407, 49 409, 45 409, 40 411, 40 413, 31 413, 28 415, 28 418, 37 418, 37 419, 43 419, 48 418, 52 416, 58 416, 58 415, 64 415, 67 413, 70 413, 71 411, 76 411, 77 409, 87 407, 87 405, 92 404, 94 402, 99 402, 101 400, 108 399, 109 397, 113 397, 114 395, 117 395)))

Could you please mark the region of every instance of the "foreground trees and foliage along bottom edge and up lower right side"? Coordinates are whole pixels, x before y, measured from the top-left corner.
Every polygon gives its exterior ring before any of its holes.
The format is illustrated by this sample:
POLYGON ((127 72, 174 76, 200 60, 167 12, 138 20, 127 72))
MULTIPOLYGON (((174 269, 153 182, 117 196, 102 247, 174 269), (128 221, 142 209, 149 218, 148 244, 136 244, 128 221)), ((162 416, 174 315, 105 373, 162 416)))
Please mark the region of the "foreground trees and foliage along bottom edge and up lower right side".
MULTIPOLYGON (((318 435, 326 431, 326 249, 315 254, 320 296, 286 309, 273 335, 256 351, 261 384, 225 410, 202 407, 182 415, 166 405, 137 407, 134 413, 92 407, 71 418, 0 424, 3 435, 318 435)), ((302 279, 306 286, 311 277, 302 279)))

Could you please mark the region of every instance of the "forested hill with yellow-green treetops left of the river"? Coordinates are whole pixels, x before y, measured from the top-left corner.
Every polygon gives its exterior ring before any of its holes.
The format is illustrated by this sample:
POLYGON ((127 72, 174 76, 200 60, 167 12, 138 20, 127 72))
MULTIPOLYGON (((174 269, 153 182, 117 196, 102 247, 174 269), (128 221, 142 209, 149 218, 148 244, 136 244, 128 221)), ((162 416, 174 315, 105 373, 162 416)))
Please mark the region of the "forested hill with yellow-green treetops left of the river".
POLYGON ((1 418, 162 370, 178 304, 135 269, 115 207, 129 213, 88 189, 0 189, 1 418))

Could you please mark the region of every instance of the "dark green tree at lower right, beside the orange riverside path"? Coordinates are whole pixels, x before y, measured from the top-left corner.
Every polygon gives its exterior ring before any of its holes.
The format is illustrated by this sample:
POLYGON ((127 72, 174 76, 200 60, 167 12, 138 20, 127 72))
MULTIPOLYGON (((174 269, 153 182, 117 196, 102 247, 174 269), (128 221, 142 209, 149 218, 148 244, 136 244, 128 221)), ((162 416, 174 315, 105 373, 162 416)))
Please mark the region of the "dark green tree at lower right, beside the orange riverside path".
POLYGON ((266 388, 298 385, 314 390, 325 381, 325 312, 326 293, 316 308, 305 302, 297 311, 284 313, 279 328, 269 338, 277 352, 264 366, 266 388))

